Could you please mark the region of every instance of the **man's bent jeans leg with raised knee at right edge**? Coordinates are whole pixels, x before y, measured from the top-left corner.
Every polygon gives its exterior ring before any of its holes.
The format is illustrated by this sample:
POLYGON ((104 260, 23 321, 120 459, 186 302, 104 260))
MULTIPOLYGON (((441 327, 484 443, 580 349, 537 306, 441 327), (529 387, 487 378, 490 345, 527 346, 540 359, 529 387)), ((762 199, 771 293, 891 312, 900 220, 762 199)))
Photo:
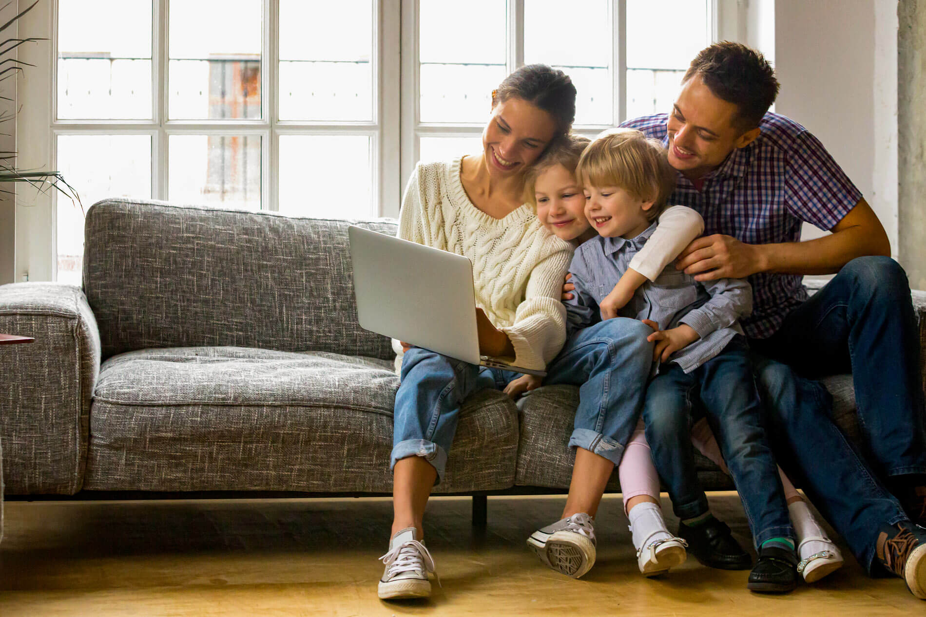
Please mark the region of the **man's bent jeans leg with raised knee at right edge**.
POLYGON ((866 454, 882 478, 926 473, 920 336, 907 274, 859 257, 753 349, 801 376, 852 373, 866 454))

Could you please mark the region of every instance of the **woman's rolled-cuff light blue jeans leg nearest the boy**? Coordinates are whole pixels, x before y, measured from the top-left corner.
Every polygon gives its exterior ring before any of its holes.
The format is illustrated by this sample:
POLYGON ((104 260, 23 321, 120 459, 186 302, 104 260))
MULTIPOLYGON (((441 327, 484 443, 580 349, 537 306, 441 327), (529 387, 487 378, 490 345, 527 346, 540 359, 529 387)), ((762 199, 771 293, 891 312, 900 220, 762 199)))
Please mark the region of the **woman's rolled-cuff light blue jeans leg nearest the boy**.
POLYGON ((582 448, 618 465, 643 409, 653 364, 653 329, 616 317, 569 337, 547 367, 544 386, 579 386, 570 448, 582 448))

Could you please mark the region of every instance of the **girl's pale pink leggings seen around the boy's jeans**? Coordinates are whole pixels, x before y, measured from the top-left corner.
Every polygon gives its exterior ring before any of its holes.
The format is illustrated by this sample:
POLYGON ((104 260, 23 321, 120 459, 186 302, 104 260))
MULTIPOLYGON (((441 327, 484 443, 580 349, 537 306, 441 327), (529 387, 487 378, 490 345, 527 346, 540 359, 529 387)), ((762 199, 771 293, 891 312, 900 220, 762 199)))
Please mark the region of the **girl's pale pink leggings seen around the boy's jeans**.
MULTIPOLYGON (((700 450, 708 459, 717 463, 723 473, 729 475, 726 463, 720 455, 720 446, 717 439, 710 432, 710 426, 707 426, 707 420, 702 418, 692 426, 692 443, 694 447, 700 450)), ((793 497, 799 497, 795 485, 784 475, 782 468, 778 468, 778 475, 782 477, 782 487, 784 488, 784 498, 790 500, 793 497)), ((620 459, 618 466, 618 476, 620 479, 620 489, 624 495, 624 512, 628 512, 627 501, 640 495, 648 495, 653 499, 659 500, 659 475, 656 467, 653 465, 653 458, 650 455, 649 444, 646 443, 644 435, 643 420, 637 423, 636 430, 624 450, 624 456, 620 459)))

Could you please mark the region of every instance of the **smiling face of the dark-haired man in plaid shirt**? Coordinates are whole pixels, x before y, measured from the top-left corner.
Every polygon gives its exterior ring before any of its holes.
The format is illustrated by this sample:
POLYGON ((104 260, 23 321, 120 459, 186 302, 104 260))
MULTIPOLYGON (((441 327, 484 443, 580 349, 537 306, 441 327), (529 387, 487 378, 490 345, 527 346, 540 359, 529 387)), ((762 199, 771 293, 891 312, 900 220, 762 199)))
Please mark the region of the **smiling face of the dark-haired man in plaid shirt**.
POLYGON ((736 148, 758 137, 736 125, 736 105, 711 92, 700 76, 682 84, 669 114, 669 164, 688 179, 698 179, 720 166, 736 148))

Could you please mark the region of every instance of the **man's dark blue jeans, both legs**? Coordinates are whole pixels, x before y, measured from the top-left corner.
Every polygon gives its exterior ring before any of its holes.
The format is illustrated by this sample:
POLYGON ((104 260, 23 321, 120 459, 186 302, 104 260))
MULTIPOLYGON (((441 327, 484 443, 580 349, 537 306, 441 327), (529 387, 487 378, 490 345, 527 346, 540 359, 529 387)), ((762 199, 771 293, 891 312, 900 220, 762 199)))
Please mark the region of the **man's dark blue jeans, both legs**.
POLYGON ((755 354, 753 364, 779 464, 872 574, 878 528, 908 520, 882 478, 926 471, 920 349, 906 273, 887 257, 855 259, 770 339, 750 345, 765 354, 755 354), (832 422, 830 393, 805 377, 849 371, 878 475, 832 422))

